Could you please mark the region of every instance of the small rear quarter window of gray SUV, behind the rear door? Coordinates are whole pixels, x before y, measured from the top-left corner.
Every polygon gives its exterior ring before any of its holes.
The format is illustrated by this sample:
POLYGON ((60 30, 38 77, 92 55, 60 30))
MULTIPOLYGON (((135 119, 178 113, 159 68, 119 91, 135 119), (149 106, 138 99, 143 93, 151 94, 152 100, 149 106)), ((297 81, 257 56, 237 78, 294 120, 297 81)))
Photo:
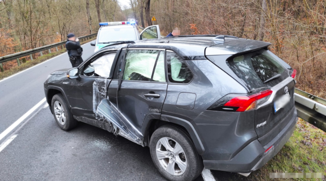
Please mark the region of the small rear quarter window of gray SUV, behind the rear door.
POLYGON ((168 78, 172 83, 189 83, 193 74, 185 62, 174 52, 166 53, 168 64, 168 78))

